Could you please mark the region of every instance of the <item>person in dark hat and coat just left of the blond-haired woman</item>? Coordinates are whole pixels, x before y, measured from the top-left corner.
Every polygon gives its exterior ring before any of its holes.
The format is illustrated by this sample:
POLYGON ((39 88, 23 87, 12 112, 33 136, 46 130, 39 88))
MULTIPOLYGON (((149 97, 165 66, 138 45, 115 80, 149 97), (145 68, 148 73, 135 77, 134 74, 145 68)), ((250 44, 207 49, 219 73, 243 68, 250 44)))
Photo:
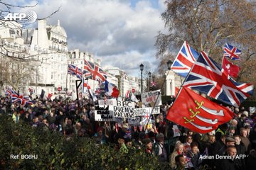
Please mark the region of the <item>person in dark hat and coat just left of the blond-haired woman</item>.
POLYGON ((164 146, 164 134, 159 133, 156 135, 156 143, 154 143, 154 154, 158 157, 159 162, 166 162, 167 152, 166 147, 164 146))

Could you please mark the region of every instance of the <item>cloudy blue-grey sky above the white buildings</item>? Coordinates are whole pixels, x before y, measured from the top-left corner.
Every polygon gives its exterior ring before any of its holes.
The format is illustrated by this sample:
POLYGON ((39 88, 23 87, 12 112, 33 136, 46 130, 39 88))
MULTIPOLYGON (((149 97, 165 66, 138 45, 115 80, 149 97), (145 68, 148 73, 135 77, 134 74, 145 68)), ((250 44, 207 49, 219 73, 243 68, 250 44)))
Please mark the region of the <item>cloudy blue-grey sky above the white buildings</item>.
MULTIPOLYGON (((159 64, 154 43, 164 30, 165 0, 43 0, 31 8, 43 18, 60 7, 47 23, 65 28, 69 50, 90 52, 102 66, 119 67, 139 76, 139 64, 154 72, 159 64)), ((20 1, 21 4, 35 1, 20 1)))

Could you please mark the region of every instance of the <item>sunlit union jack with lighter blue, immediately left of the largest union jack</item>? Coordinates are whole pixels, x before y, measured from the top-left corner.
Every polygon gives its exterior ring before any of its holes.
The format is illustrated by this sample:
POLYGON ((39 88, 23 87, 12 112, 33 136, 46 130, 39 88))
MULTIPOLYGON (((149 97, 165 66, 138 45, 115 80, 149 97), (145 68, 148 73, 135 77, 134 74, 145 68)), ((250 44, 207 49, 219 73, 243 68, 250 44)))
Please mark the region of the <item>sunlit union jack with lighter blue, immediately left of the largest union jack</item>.
POLYGON ((178 52, 174 63, 171 65, 171 70, 182 77, 186 77, 188 72, 191 70, 193 63, 196 62, 198 55, 198 52, 193 50, 193 48, 190 47, 185 41, 181 47, 181 50, 178 52))

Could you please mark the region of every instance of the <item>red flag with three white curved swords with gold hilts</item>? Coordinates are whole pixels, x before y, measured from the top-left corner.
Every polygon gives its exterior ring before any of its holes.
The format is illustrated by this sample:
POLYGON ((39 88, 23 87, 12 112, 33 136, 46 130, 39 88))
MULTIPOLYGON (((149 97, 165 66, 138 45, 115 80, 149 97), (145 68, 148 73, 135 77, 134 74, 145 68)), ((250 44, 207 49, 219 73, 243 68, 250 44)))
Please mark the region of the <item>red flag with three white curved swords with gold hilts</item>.
POLYGON ((190 130, 206 133, 227 123, 233 112, 183 87, 167 113, 167 119, 190 130))

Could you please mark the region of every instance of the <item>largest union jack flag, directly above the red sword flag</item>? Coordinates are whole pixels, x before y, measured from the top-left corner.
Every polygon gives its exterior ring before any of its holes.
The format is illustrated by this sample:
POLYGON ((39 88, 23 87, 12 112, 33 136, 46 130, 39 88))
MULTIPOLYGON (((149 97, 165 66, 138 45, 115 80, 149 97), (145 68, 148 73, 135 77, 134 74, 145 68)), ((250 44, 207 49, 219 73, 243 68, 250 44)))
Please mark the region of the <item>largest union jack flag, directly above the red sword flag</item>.
POLYGON ((183 86, 235 107, 253 93, 251 84, 233 80, 205 52, 199 55, 183 86))

